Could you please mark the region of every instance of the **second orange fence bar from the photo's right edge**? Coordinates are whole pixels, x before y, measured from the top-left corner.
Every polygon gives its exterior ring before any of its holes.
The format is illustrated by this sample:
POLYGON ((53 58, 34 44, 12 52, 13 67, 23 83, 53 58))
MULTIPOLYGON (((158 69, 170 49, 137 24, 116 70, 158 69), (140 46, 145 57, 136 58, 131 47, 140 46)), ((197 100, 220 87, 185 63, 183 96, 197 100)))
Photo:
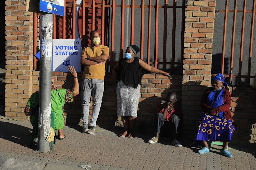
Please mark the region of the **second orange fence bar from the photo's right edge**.
POLYGON ((241 42, 240 42, 241 45, 240 45, 240 57, 239 57, 239 71, 238 71, 238 86, 241 85, 241 72, 242 72, 242 60, 243 60, 243 44, 244 44, 245 10, 246 10, 246 0, 244 0, 244 7, 243 7, 242 33, 241 33, 241 42))

